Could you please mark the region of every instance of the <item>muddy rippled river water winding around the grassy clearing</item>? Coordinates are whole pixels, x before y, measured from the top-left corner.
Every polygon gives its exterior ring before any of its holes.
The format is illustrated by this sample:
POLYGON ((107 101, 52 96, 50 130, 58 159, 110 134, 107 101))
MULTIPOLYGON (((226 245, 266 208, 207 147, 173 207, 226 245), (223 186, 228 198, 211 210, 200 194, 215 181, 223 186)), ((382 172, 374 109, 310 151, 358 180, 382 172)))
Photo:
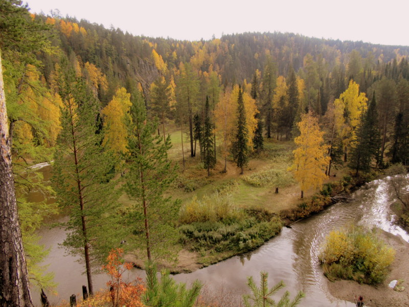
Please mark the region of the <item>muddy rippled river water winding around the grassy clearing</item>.
MULTIPOLYGON (((317 256, 325 236, 333 229, 348 225, 378 227, 401 235, 409 242, 409 235, 393 223, 388 188, 388 178, 368 183, 354 192, 348 202, 335 204, 293 224, 292 228, 283 228, 278 236, 251 253, 232 257, 193 273, 175 275, 174 279, 187 283, 199 279, 211 291, 224 289, 241 296, 248 291, 247 276, 253 276, 258 284, 260 271, 266 271, 269 273, 269 285, 284 280, 285 290, 290 291, 291 297, 303 290, 306 297, 301 306, 354 306, 351 302, 336 299, 329 294, 317 256)), ((58 303, 61 299, 69 299, 72 294, 79 294, 82 284, 87 284, 85 275, 81 275, 84 266, 77 262, 78 257, 67 255, 58 246, 65 238, 65 231, 43 227, 39 234, 42 236, 41 244, 50 248, 45 262, 50 264, 48 270, 55 273, 55 281, 59 284, 58 295, 49 295, 50 301, 58 303)), ((143 278, 144 272, 134 269, 129 277, 143 278)), ((106 280, 104 274, 94 275, 94 289, 104 288, 106 280)), ((278 296, 283 293, 284 290, 278 296)), ((33 292, 32 296, 39 305, 39 295, 33 292)))

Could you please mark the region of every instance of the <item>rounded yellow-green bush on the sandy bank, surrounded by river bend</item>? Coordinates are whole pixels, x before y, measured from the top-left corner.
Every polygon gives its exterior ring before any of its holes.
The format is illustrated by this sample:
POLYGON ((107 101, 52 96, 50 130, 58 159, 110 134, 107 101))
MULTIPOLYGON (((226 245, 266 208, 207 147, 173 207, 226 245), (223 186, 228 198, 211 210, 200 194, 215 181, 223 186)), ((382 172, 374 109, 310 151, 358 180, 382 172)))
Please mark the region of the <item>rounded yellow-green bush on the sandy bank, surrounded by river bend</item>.
POLYGON ((384 280, 394 257, 395 251, 373 231, 353 227, 330 232, 320 261, 330 280, 342 278, 376 284, 384 280))

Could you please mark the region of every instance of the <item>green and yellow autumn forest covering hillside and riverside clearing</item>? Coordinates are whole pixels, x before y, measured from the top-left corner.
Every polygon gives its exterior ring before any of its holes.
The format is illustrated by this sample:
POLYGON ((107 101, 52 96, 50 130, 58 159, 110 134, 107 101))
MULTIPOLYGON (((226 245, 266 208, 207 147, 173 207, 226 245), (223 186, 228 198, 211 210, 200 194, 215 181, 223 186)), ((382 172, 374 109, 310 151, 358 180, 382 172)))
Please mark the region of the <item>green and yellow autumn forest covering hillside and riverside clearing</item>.
POLYGON ((11 297, 31 305, 24 286, 7 290, 12 266, 39 289, 53 287, 37 235, 50 216, 69 216, 63 245, 83 258, 93 294, 93 270, 117 272, 118 254, 138 255, 135 264, 156 272, 154 262, 176 263, 188 250, 208 266, 330 202, 340 192, 335 179, 358 185, 408 163, 407 46, 279 32, 134 36, 7 0, 0 51, 2 306, 11 297), (50 182, 33 167, 44 162, 50 182), (289 187, 297 190, 291 204, 244 204, 254 188, 289 187), (30 202, 31 191, 44 200, 30 202), (6 242, 15 240, 13 258, 6 242))

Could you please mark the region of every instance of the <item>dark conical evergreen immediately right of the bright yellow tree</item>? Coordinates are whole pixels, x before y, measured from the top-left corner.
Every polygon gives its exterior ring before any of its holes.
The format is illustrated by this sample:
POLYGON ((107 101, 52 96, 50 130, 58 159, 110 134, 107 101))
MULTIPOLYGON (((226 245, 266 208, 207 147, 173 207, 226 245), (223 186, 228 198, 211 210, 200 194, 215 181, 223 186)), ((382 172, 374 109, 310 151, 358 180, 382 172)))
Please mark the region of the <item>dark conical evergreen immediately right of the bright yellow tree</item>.
POLYGON ((355 169, 355 176, 358 176, 359 170, 369 171, 372 160, 378 162, 379 158, 381 142, 375 93, 367 112, 362 115, 356 136, 349 165, 355 169))

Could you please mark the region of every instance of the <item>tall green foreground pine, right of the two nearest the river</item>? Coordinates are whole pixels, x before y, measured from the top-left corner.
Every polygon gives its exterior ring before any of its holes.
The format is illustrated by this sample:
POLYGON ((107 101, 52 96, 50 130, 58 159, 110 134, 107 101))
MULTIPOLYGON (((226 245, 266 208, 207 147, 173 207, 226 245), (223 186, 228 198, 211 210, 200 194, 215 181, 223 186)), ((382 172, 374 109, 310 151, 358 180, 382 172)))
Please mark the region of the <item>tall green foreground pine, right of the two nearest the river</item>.
POLYGON ((128 162, 124 189, 133 205, 129 223, 135 234, 135 247, 145 246, 148 260, 152 249, 156 256, 169 255, 178 238, 172 224, 178 212, 178 202, 165 197, 164 192, 176 178, 176 166, 168 160, 170 137, 165 144, 155 134, 157 121, 147 119, 141 93, 132 95, 132 122, 129 125, 128 162), (144 234, 142 236, 142 234, 144 234))

